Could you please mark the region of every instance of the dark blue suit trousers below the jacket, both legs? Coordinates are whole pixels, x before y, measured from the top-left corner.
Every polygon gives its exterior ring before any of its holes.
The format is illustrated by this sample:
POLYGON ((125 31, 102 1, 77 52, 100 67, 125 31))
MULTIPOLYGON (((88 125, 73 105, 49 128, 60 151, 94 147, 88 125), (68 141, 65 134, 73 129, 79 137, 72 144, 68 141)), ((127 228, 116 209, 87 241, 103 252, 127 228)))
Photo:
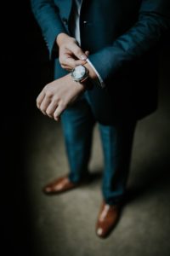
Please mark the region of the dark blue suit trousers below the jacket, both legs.
MULTIPOLYGON (((89 175, 93 130, 97 123, 86 92, 62 113, 61 122, 70 166, 69 177, 78 183, 89 175)), ((102 194, 105 202, 113 205, 121 202, 125 194, 136 120, 98 125, 104 154, 102 194)))

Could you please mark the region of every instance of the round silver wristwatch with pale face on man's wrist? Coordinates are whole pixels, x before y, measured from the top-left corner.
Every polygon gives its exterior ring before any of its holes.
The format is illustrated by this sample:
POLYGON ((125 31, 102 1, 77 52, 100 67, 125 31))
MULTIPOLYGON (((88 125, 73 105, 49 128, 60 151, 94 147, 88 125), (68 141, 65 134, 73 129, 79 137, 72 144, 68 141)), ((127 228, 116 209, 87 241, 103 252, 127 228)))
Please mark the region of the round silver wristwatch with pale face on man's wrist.
POLYGON ((82 65, 71 70, 71 77, 74 81, 82 83, 88 79, 88 68, 82 65))

